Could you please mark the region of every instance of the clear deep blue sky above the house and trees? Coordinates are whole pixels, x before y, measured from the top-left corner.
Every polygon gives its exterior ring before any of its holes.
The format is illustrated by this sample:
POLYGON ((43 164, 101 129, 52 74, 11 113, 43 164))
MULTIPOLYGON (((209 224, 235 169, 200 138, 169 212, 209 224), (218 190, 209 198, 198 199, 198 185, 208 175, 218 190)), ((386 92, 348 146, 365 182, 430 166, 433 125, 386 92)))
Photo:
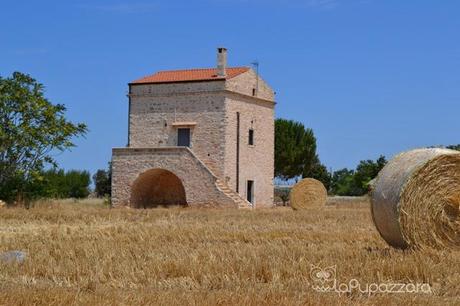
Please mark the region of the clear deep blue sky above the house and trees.
POLYGON ((260 62, 277 117, 313 128, 328 168, 460 143, 454 0, 4 1, 0 75, 44 83, 90 132, 57 156, 94 172, 126 145, 127 83, 162 69, 260 62))

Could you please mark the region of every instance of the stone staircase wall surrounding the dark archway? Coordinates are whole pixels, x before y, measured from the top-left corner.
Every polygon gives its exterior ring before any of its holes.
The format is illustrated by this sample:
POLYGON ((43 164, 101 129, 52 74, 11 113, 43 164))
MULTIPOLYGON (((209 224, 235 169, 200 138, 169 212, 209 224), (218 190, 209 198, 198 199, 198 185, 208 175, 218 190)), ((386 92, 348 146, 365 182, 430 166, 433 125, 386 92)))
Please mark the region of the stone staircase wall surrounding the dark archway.
POLYGON ((217 177, 184 147, 113 149, 112 205, 130 206, 133 182, 151 169, 174 173, 184 185, 190 206, 236 207, 235 202, 216 187, 217 177))

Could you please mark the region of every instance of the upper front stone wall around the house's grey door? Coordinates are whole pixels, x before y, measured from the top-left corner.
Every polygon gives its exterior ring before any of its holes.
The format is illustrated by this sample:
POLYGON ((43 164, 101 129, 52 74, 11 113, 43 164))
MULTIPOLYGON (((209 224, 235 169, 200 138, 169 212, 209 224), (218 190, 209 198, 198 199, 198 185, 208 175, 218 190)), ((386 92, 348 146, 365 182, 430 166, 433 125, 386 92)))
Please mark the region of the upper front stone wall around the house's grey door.
MULTIPOLYGON (((214 83, 209 84, 213 86, 214 83)), ((214 174, 221 176, 224 110, 222 93, 132 96, 130 147, 176 146, 178 127, 173 123, 195 122, 196 125, 187 126, 191 129, 190 148, 214 174)))

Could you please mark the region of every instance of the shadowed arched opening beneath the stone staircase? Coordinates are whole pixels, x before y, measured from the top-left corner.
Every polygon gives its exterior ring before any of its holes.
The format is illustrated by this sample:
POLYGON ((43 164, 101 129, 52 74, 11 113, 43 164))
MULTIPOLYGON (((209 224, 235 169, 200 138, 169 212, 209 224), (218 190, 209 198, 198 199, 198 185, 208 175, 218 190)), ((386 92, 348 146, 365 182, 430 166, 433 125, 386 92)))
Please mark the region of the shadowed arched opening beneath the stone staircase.
POLYGON ((187 205, 182 181, 165 169, 140 174, 132 185, 130 203, 134 208, 187 205))

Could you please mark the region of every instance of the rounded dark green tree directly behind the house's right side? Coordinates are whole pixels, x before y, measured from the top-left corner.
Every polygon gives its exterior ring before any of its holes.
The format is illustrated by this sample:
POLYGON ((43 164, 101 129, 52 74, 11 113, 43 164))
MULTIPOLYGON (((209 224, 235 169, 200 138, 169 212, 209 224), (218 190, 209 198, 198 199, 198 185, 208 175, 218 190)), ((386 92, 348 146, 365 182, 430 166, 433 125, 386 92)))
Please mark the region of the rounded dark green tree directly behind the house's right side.
POLYGON ((275 121, 275 176, 291 179, 311 173, 317 162, 313 130, 293 120, 275 121))

